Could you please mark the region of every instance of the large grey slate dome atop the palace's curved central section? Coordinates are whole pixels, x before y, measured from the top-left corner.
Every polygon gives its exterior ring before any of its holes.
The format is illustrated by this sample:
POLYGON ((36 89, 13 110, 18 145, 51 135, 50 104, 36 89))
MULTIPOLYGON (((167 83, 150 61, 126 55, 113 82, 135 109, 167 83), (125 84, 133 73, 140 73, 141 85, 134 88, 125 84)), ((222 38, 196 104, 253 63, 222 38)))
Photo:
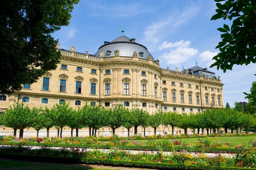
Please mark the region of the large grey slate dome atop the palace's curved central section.
MULTIPOLYGON (((111 42, 104 42, 98 51, 94 54, 96 57, 100 57, 100 52, 104 52, 104 57, 113 57, 115 56, 114 51, 119 51, 119 56, 122 57, 132 57, 133 53, 136 52, 139 58, 148 59, 148 55, 151 55, 150 52, 147 51, 147 48, 141 44, 135 42, 135 39, 130 39, 121 35, 117 39, 111 42)), ((151 55, 152 57, 152 55, 151 55)), ((152 61, 156 62, 152 57, 152 61)))

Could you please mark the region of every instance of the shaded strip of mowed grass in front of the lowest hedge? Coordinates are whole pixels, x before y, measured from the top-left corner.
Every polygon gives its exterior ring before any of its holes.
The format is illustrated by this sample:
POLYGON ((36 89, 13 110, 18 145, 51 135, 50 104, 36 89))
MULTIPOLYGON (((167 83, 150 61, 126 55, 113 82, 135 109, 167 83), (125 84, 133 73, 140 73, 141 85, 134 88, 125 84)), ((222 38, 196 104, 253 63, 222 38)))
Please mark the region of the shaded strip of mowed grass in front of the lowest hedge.
POLYGON ((0 160, 0 169, 33 169, 33 170, 42 170, 42 169, 56 169, 56 170, 65 170, 65 169, 92 169, 92 170, 109 170, 106 168, 93 168, 86 165, 65 165, 65 164, 55 164, 55 163, 40 163, 40 162, 22 162, 22 161, 11 161, 11 160, 0 160))

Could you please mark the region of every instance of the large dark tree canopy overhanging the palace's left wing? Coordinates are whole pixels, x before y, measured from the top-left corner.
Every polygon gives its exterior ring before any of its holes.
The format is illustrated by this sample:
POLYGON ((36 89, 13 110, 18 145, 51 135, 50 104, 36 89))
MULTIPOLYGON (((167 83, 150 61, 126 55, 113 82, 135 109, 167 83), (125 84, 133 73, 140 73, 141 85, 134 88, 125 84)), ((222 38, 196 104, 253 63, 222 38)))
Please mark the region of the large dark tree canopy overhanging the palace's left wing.
POLYGON ((79 0, 0 1, 0 93, 34 83, 59 63, 51 33, 67 26, 79 0))

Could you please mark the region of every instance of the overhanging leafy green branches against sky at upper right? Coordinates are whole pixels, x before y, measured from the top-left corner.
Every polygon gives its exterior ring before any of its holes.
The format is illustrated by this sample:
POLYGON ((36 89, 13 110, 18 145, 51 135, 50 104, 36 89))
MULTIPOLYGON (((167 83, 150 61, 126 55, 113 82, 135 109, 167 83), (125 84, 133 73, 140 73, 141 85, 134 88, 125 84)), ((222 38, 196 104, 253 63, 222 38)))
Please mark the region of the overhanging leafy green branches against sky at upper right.
POLYGON ((224 24, 223 28, 218 28, 222 41, 216 48, 220 53, 212 59, 216 60, 210 67, 217 66, 217 69, 232 70, 233 65, 248 65, 256 63, 256 2, 252 0, 215 0, 218 9, 217 14, 211 20, 223 18, 232 20, 229 27, 224 24))

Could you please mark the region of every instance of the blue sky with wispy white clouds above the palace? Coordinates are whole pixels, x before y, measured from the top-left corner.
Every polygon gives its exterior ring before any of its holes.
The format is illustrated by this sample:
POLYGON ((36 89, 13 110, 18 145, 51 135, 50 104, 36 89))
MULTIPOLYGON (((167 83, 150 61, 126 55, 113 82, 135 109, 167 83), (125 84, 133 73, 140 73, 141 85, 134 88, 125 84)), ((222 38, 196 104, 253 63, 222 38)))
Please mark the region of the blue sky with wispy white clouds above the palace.
POLYGON ((216 67, 209 68, 220 39, 217 28, 231 21, 211 21, 216 9, 211 0, 183 1, 81 1, 74 6, 72 19, 67 27, 53 34, 59 39, 60 48, 69 50, 75 46, 77 52, 88 49, 97 52, 104 41, 112 41, 124 35, 135 38, 147 47, 154 59, 159 58, 160 67, 182 70, 198 66, 208 68, 221 76, 224 102, 233 107, 234 102, 247 101, 243 92, 249 92, 255 81, 255 64, 234 66, 225 74, 216 67))

